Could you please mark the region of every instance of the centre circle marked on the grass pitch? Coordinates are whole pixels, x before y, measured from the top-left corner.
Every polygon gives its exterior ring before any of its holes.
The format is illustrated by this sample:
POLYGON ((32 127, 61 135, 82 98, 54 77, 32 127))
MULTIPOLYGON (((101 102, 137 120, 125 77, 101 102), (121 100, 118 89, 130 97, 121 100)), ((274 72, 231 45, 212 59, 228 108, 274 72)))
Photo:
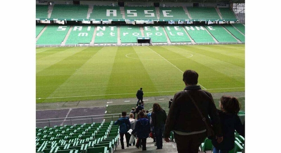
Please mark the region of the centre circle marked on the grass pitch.
MULTIPOLYGON (((162 52, 163 53, 163 52, 162 52)), ((168 53, 171 53, 171 52, 168 52, 168 53)), ((161 59, 153 59, 153 58, 149 58, 150 56, 146 56, 146 58, 139 58, 138 55, 139 54, 154 54, 154 52, 140 52, 140 53, 129 53, 126 55, 127 58, 130 58, 130 59, 136 59, 136 60, 156 60, 156 61, 162 61, 162 60, 181 60, 181 59, 187 59, 187 58, 190 58, 192 57, 193 55, 190 54, 190 53, 184 53, 184 52, 173 52, 173 53, 183 53, 183 54, 187 54, 188 56, 187 57, 183 57, 183 58, 170 58, 170 59, 164 59, 162 58, 161 56, 161 59)), ((153 56, 151 56, 153 57, 153 56)))

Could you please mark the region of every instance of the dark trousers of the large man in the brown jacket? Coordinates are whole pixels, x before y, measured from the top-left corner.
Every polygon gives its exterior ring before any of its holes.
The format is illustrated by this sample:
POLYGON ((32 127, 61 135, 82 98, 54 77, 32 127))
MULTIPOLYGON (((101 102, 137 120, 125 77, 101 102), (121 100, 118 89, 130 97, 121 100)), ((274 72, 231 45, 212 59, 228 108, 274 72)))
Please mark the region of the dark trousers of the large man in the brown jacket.
POLYGON ((174 133, 179 153, 198 153, 200 144, 205 140, 206 133, 194 135, 178 135, 174 133))

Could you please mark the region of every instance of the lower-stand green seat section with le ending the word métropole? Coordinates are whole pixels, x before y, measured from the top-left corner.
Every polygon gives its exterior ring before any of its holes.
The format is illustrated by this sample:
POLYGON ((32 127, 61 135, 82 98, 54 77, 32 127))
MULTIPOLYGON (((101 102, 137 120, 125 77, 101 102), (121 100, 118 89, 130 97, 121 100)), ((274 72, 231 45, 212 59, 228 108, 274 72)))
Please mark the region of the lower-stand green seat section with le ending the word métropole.
POLYGON ((164 26, 171 42, 191 42, 182 26, 164 26))

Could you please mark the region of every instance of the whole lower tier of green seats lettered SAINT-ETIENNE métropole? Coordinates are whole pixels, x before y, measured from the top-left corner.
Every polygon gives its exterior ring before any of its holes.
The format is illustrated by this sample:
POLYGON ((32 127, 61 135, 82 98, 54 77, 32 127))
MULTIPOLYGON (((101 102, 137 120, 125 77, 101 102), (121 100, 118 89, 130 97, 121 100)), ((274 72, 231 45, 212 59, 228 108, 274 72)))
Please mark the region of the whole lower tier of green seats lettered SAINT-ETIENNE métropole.
MULTIPOLYGON (((244 26, 244 25, 242 25, 244 26)), ((120 34, 118 37, 117 25, 36 25, 36 37, 46 27, 42 35, 37 38, 36 44, 49 45, 61 44, 90 44, 90 43, 137 43, 138 37, 150 37, 153 43, 191 42, 196 43, 218 42, 245 42, 245 35, 241 34, 234 24, 209 24, 209 25, 119 25, 120 34), (94 31, 96 33, 94 36, 94 31), (143 32, 141 31, 143 29, 143 32), (189 37, 189 36, 190 37, 189 37), (94 42, 92 40, 94 39, 94 42)))

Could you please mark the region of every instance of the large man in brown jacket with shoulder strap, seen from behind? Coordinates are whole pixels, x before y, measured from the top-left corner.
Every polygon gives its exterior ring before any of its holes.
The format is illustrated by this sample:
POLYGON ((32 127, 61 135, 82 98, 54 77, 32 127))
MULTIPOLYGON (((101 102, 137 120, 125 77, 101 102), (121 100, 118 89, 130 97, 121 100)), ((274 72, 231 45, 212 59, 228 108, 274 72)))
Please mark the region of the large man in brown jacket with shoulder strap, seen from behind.
POLYGON ((218 143, 223 141, 221 123, 211 93, 198 86, 198 73, 186 70, 183 73, 184 91, 175 94, 167 116, 164 139, 174 131, 178 152, 198 152, 200 144, 206 138, 206 124, 189 95, 194 99, 206 121, 212 123, 218 143), (209 115, 209 117, 208 117, 209 115))

